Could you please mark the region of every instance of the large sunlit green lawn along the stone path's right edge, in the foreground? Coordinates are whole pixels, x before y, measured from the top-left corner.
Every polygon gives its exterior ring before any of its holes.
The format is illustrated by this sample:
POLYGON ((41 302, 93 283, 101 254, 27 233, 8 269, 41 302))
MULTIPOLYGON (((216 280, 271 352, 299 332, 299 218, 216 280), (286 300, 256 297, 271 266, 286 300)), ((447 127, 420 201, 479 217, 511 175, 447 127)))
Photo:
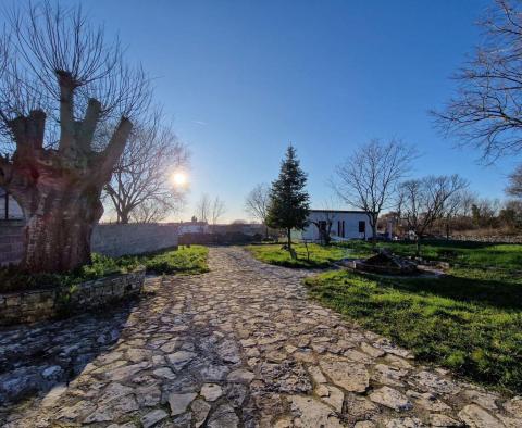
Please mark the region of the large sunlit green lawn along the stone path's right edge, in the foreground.
POLYGON ((471 267, 448 274, 383 279, 338 270, 306 284, 311 297, 391 338, 421 361, 521 393, 522 277, 471 267))

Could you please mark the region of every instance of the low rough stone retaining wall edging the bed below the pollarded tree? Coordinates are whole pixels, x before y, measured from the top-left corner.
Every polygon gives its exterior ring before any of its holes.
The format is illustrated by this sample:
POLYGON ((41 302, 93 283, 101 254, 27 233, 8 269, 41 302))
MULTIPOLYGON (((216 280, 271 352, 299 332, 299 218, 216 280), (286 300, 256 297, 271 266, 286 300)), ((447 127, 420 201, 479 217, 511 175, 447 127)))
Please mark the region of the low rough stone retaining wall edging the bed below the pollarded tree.
POLYGON ((53 318, 75 310, 103 306, 141 291, 145 268, 86 281, 71 289, 33 290, 0 294, 0 326, 53 318))

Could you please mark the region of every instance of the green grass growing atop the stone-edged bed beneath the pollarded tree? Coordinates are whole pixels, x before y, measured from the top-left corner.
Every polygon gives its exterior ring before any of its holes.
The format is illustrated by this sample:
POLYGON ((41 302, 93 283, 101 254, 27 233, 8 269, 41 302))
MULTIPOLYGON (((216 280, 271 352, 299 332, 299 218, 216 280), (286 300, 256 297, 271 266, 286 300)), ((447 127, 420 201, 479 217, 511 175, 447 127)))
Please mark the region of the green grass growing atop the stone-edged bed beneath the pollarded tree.
POLYGON ((65 274, 27 274, 16 266, 0 268, 0 292, 39 288, 72 287, 115 274, 125 274, 145 266, 154 274, 200 274, 208 272, 208 249, 202 246, 166 250, 150 254, 108 257, 92 254, 92 264, 65 274))

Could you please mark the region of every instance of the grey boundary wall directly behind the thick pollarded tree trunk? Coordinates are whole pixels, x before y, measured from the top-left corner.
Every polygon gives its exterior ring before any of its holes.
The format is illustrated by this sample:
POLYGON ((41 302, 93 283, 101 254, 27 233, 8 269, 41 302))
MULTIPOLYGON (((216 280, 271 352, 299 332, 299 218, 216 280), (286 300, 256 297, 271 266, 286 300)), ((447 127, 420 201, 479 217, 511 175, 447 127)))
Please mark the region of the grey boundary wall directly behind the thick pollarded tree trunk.
MULTIPOLYGON (((0 266, 22 260, 23 226, 20 223, 0 224, 0 266)), ((95 227, 91 250, 120 256, 140 254, 177 247, 177 226, 173 224, 102 224, 95 227)))

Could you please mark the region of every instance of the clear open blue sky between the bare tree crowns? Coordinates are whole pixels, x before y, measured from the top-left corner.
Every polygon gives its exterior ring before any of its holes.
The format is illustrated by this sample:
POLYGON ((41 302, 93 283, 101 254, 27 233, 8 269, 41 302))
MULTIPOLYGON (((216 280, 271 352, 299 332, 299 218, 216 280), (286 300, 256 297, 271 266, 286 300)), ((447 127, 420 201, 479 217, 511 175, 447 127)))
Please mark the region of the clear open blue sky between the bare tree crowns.
POLYGON ((182 217, 207 192, 232 221, 246 217, 256 184, 276 177, 289 141, 315 206, 332 194, 334 165, 375 137, 418 147, 413 175, 459 173, 481 196, 504 198, 517 160, 480 165, 427 113, 451 95, 449 77, 480 42, 474 23, 490 4, 96 0, 85 9, 156 77, 157 100, 192 151, 182 217))

